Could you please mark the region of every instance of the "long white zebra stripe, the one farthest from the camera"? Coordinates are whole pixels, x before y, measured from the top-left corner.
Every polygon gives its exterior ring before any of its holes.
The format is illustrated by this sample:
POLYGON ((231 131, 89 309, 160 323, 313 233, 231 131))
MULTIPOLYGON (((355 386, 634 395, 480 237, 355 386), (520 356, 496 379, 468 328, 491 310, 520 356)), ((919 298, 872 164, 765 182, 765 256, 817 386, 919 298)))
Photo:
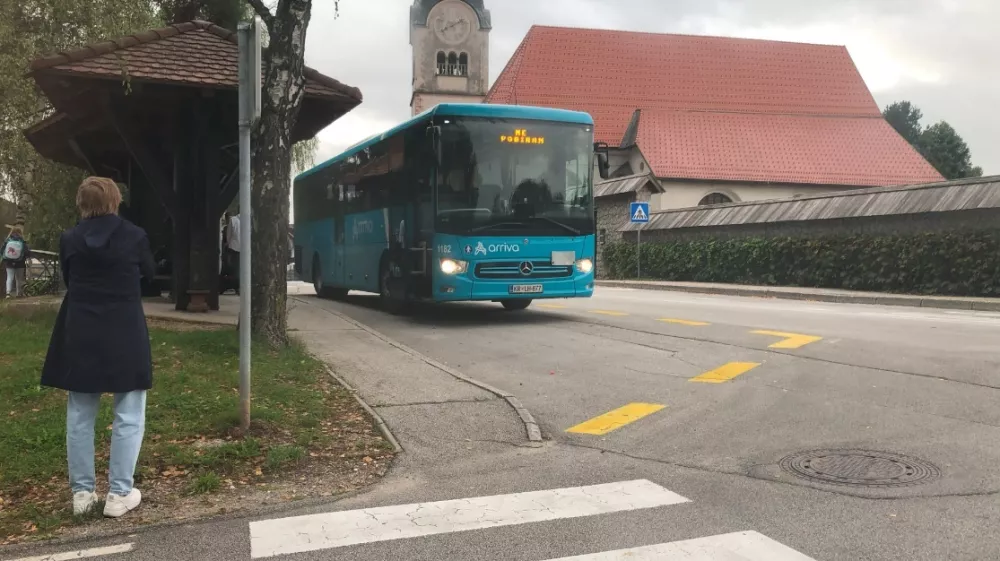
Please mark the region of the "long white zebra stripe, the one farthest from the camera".
POLYGON ((690 502, 644 479, 250 523, 250 557, 595 516, 690 502))

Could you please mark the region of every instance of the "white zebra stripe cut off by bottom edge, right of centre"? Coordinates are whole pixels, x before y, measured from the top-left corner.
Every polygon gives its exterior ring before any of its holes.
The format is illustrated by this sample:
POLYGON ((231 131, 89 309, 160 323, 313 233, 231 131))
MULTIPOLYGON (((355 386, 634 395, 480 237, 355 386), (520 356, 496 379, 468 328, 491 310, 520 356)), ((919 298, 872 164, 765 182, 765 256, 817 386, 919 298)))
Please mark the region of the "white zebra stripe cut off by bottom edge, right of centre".
POLYGON ((757 532, 604 551, 548 561, 816 561, 757 532))

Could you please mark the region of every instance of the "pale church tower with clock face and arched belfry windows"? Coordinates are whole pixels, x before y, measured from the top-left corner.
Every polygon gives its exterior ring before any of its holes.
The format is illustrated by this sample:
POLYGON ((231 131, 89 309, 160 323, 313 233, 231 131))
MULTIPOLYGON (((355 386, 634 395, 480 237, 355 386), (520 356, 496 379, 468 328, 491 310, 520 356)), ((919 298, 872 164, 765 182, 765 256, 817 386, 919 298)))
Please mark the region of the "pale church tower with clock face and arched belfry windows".
POLYGON ((489 91, 490 12, 483 0, 414 0, 413 115, 439 103, 481 103, 489 91))

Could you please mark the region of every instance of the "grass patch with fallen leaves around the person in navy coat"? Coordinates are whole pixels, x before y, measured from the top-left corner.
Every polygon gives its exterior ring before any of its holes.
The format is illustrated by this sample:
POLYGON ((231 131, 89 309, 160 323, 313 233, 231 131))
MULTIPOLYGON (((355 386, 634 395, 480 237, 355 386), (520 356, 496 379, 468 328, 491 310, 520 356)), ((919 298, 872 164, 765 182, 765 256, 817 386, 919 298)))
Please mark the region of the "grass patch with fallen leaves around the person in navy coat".
MULTIPOLYGON (((38 385, 56 312, 0 305, 0 544, 51 536, 97 517, 72 516, 66 394, 38 385)), ((392 457, 371 419, 303 349, 254 349, 253 418, 238 434, 238 334, 233 328, 150 323, 153 389, 136 473, 144 507, 326 478, 347 490, 381 476, 392 457)), ((107 492, 111 399, 97 421, 98 492, 107 492)), ((243 493, 245 494, 245 493, 243 493)), ((232 508, 230 508, 231 510, 232 508)))

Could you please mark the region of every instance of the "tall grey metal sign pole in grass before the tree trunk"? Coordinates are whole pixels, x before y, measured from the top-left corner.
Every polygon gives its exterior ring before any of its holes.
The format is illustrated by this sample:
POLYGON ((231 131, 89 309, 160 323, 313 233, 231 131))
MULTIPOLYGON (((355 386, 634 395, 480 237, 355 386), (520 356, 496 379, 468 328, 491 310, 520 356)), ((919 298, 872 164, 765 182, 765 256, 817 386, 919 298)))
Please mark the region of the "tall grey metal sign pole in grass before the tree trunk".
POLYGON ((239 25, 239 129, 240 129, 240 426, 250 428, 250 126, 251 26, 239 25))

